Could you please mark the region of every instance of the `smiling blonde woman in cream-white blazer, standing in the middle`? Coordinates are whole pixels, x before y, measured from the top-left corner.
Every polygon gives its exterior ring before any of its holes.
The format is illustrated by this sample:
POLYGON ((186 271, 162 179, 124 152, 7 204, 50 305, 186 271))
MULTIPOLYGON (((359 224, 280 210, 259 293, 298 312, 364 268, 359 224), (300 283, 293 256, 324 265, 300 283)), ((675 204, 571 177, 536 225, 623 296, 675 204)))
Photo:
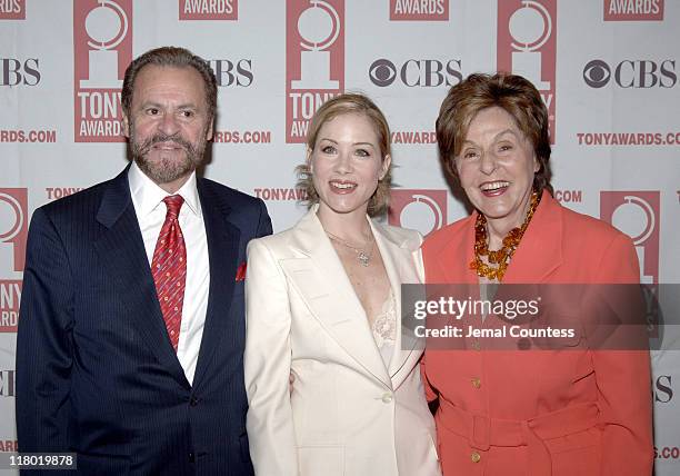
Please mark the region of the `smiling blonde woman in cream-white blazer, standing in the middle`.
POLYGON ((382 226, 390 131, 341 95, 314 115, 292 228, 252 240, 246 290, 248 436, 263 476, 434 476, 434 423, 402 345, 402 282, 422 280, 416 231, 382 226), (289 374, 294 386, 289 394, 289 374))

